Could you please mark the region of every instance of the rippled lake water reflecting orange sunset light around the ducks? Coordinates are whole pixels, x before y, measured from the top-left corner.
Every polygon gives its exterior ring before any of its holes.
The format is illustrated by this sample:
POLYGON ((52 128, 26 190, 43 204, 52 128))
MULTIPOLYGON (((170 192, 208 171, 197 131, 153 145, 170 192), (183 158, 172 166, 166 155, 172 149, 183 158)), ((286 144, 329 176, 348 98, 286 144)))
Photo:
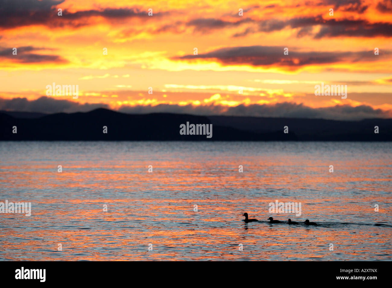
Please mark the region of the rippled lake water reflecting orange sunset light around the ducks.
POLYGON ((0 214, 0 260, 392 260, 391 172, 390 142, 4 141, 31 216, 0 214))

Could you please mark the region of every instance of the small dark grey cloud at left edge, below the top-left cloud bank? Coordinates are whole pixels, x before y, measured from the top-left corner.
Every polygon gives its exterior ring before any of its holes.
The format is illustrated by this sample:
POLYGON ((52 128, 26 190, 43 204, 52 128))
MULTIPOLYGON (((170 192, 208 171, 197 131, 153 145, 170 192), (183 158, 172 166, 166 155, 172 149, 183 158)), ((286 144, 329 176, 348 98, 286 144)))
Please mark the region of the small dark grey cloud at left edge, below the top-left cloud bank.
POLYGON ((8 59, 12 62, 18 63, 47 63, 47 62, 55 62, 55 63, 66 63, 67 60, 64 60, 62 57, 58 55, 44 55, 44 54, 34 54, 30 53, 33 51, 39 50, 53 50, 50 48, 39 48, 33 46, 23 46, 23 47, 15 47, 16 55, 13 55, 12 48, 1 48, 0 47, 0 59, 8 59))

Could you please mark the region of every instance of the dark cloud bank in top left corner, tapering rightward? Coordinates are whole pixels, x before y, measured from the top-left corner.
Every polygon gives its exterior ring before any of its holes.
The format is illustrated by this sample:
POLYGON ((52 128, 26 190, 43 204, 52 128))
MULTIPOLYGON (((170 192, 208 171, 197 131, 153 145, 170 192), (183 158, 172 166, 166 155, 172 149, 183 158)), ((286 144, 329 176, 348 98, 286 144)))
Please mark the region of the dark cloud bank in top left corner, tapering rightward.
MULTIPOLYGON (((14 28, 28 25, 47 25, 48 27, 63 27, 70 25, 80 27, 89 25, 88 19, 101 16, 107 20, 123 18, 147 17, 148 11, 138 8, 106 8, 102 10, 92 9, 71 13, 62 10, 62 16, 58 16, 59 4, 64 0, 0 0, 0 27, 14 28)), ((170 14, 169 12, 154 13, 154 17, 170 14)))

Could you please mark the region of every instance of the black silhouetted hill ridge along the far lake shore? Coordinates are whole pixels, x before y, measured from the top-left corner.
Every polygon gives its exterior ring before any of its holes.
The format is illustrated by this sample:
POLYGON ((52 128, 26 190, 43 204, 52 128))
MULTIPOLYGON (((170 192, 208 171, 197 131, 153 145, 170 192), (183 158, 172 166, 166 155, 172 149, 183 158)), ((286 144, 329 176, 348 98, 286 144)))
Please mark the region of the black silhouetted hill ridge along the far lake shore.
POLYGON ((298 118, 124 114, 107 109, 43 114, 0 112, 0 140, 190 140, 190 141, 392 141, 392 119, 336 121, 298 118), (212 124, 212 138, 180 135, 180 125, 212 124), (17 127, 16 134, 12 127, 17 127), (103 133, 107 126, 107 134, 103 133), (289 134, 283 127, 289 126, 289 134), (379 126, 379 134, 374 133, 379 126))

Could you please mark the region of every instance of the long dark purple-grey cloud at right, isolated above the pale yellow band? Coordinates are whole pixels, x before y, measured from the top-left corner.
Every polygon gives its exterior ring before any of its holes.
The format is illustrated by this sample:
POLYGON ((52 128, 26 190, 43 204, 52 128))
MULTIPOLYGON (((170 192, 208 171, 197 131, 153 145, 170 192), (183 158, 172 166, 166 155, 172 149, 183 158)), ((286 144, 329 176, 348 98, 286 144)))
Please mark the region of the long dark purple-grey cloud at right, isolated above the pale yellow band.
MULTIPOLYGON (((391 55, 390 51, 384 51, 385 55, 391 55)), ((283 55, 283 47, 280 46, 245 46, 228 47, 199 55, 185 55, 172 58, 174 60, 208 59, 217 61, 223 65, 252 65, 252 66, 282 66, 301 67, 304 65, 317 65, 338 62, 372 61, 374 51, 360 52, 296 52, 289 50, 289 55, 283 55)))

